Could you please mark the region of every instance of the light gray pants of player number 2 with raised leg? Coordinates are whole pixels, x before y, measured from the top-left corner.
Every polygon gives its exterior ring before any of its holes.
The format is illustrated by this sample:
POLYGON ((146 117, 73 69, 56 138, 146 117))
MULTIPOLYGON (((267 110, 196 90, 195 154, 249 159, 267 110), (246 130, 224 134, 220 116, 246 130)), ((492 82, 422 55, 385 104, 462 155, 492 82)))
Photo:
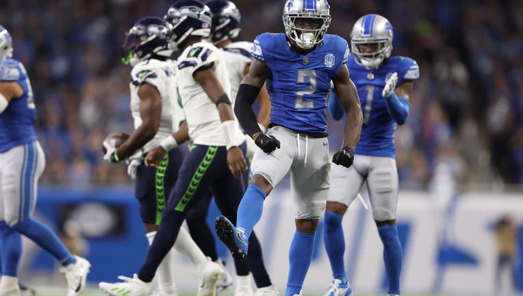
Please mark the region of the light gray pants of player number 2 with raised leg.
POLYGON ((274 188, 290 170, 296 219, 319 219, 331 186, 329 141, 281 126, 271 127, 267 134, 277 138, 281 148, 270 154, 257 149, 251 164, 253 175, 262 175, 274 188))

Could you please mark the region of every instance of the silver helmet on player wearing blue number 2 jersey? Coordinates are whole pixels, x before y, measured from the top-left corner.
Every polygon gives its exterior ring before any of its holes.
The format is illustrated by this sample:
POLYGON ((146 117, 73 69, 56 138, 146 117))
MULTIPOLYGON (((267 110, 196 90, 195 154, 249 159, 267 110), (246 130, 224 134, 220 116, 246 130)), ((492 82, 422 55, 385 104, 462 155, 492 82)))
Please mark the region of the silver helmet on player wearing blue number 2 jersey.
POLYGON ((283 8, 285 34, 301 49, 311 49, 323 41, 331 24, 327 0, 287 0, 283 8), (307 21, 314 28, 303 29, 296 21, 307 21))

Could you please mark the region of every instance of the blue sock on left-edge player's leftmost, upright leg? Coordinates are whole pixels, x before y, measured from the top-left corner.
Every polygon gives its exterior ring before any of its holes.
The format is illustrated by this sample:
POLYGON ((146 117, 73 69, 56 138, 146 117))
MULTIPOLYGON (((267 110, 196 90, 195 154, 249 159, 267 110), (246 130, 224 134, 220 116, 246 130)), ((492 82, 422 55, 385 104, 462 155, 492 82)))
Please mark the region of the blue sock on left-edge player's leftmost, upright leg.
POLYGON ((22 255, 22 236, 4 221, 0 222, 0 232, 2 275, 18 277, 18 263, 22 255))

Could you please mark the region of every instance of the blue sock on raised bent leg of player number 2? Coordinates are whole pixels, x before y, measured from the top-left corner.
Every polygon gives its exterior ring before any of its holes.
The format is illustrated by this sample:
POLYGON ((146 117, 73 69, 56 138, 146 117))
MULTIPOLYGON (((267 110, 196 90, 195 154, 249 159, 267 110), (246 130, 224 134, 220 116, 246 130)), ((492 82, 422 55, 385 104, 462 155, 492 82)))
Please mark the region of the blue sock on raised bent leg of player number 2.
POLYGON ((256 184, 250 184, 243 195, 240 206, 238 206, 236 227, 242 227, 247 238, 251 236, 254 225, 262 218, 266 197, 264 190, 256 184))

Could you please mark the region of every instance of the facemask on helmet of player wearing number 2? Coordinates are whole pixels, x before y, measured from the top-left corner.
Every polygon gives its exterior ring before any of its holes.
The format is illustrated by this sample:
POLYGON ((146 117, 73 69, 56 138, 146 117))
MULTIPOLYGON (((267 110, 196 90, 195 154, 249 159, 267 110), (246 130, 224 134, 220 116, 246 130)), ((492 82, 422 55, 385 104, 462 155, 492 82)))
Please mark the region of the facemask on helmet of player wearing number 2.
POLYGON ((285 34, 301 49, 311 49, 323 41, 331 24, 331 16, 325 14, 283 14, 285 34))

